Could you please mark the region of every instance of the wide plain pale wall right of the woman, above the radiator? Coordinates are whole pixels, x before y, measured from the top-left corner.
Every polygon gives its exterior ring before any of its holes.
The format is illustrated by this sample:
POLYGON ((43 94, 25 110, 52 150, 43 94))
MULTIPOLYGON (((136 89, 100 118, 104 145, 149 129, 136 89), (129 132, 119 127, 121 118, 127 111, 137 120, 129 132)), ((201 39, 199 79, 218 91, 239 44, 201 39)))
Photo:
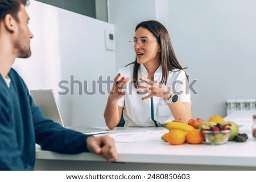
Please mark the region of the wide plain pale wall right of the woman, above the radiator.
POLYGON ((227 99, 256 98, 256 1, 169 1, 170 34, 190 81, 193 116, 226 116, 227 99))

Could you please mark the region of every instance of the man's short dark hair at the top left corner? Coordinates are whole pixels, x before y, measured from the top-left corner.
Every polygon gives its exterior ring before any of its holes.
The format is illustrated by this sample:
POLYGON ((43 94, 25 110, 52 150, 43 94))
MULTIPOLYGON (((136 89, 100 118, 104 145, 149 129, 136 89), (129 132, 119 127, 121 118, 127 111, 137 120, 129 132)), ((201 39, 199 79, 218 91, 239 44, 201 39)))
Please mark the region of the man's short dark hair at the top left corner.
POLYGON ((27 0, 0 0, 0 21, 7 14, 18 20, 18 12, 21 4, 26 6, 27 0))

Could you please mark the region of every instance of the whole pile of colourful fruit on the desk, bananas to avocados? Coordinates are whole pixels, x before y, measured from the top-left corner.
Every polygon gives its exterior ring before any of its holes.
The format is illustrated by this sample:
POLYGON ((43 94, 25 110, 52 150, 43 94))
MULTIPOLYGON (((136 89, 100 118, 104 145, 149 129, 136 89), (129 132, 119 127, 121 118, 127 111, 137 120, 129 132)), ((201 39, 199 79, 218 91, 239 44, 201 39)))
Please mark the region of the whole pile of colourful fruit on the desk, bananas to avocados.
POLYGON ((225 130, 230 130, 229 141, 245 142, 247 140, 245 133, 239 133, 236 123, 225 122, 220 116, 210 117, 208 121, 204 121, 202 118, 192 118, 188 121, 188 124, 170 121, 163 124, 163 127, 168 129, 169 132, 162 136, 162 140, 172 145, 181 145, 184 142, 190 144, 203 143, 205 141, 203 131, 213 131, 213 133, 216 133, 213 137, 207 136, 208 139, 212 139, 212 142, 216 143, 224 141, 225 135, 220 134, 220 132, 225 130))

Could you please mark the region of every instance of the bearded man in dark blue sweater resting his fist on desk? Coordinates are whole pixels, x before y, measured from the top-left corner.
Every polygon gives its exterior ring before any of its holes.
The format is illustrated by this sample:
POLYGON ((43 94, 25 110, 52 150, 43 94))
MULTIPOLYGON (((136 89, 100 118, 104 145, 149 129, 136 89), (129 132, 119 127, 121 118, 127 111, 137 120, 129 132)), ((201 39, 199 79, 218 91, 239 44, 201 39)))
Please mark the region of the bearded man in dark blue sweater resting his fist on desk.
POLYGON ((46 118, 26 84, 11 66, 31 55, 27 0, 0 0, 0 170, 33 170, 35 143, 63 154, 92 151, 109 162, 117 159, 109 136, 88 137, 46 118))

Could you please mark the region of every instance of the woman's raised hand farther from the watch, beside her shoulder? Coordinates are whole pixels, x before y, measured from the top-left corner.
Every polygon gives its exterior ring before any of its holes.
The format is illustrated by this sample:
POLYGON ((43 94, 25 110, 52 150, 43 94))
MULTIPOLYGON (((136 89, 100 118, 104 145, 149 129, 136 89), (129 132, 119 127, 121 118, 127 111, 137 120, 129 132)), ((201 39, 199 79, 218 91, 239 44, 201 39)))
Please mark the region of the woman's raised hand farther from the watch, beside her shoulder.
POLYGON ((123 95, 126 94, 126 91, 124 90, 125 84, 129 82, 130 78, 122 77, 118 80, 118 78, 121 76, 120 73, 118 73, 114 78, 114 84, 112 86, 112 90, 109 94, 109 98, 113 100, 119 100, 122 98, 123 95))

